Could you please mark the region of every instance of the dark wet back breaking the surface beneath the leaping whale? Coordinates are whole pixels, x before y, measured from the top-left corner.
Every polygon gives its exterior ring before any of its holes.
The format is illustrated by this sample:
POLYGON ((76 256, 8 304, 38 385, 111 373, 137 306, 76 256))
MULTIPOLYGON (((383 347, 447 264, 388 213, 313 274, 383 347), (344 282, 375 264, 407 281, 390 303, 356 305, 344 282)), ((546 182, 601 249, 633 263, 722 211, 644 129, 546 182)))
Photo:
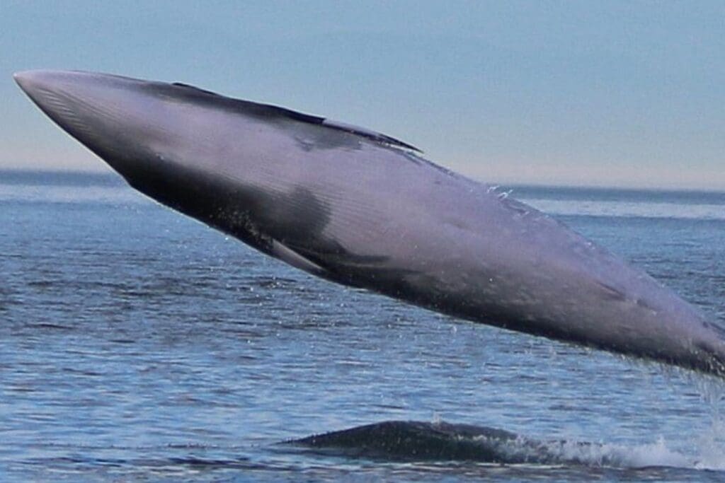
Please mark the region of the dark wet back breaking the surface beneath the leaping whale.
MULTIPOLYGON (((590 463, 587 442, 539 441, 470 424, 384 421, 281 443, 323 455, 384 461, 590 463)), ((599 464, 611 463, 601 455, 599 464)))

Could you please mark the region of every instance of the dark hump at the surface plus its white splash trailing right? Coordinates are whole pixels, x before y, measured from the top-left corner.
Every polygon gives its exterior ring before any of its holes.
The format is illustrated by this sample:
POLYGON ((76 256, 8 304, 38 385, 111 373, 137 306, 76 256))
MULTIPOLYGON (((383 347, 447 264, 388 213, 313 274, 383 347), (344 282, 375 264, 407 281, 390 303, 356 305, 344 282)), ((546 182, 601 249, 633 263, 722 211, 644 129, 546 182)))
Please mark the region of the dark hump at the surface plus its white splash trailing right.
POLYGON ((446 422, 384 421, 281 444, 321 455, 383 461, 725 470, 725 456, 712 448, 704 450, 703 458, 693 458, 667 448, 664 440, 637 446, 536 440, 503 429, 446 422))

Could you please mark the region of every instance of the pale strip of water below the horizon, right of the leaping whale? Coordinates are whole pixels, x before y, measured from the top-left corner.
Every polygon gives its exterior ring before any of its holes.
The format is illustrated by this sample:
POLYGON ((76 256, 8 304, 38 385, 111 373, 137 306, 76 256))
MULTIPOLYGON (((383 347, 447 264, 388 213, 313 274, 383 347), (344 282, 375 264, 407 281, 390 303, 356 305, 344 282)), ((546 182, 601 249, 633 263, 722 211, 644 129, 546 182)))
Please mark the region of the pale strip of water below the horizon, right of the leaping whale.
POLYGON ((548 214, 592 217, 725 219, 724 204, 652 203, 646 201, 587 201, 519 198, 548 214))

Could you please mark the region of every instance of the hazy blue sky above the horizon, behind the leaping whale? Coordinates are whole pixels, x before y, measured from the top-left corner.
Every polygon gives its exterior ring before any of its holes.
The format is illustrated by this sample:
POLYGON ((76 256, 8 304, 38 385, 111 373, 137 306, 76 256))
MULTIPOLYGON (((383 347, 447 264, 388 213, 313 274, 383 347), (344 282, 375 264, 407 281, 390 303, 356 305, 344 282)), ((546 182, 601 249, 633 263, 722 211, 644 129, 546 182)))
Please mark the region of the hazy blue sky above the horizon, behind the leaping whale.
POLYGON ((0 0, 0 169, 109 171, 12 81, 44 68, 369 127, 484 182, 724 190, 724 53, 723 1, 0 0))

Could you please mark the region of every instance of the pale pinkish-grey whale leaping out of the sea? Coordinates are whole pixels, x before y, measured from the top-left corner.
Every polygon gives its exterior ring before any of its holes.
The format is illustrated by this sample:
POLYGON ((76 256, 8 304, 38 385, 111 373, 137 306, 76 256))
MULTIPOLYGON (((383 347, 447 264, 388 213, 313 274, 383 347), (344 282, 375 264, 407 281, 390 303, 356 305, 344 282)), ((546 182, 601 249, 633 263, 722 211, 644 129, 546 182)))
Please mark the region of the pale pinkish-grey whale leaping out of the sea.
POLYGON ((373 131, 188 85, 15 75, 141 193, 319 277, 723 376, 723 331, 540 211, 373 131))

